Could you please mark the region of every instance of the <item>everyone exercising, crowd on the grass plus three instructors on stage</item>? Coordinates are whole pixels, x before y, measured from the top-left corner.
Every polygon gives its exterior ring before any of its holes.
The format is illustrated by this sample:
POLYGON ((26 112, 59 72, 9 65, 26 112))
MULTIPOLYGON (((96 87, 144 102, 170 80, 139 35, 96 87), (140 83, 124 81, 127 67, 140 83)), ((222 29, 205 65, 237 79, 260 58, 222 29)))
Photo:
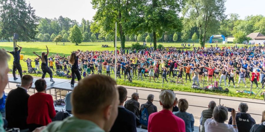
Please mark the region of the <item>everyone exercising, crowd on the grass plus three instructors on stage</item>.
MULTIPOLYGON (((16 69, 22 76, 18 58, 22 47, 19 48, 19 50, 16 48, 16 51, 10 52, 14 56, 14 79, 16 79, 16 69)), ((130 82, 133 76, 141 80, 149 76, 149 81, 154 82, 162 78, 168 82, 167 77, 173 77, 176 83, 180 80, 181 84, 185 84, 188 79, 189 82, 193 81, 193 84, 200 86, 200 82, 207 77, 208 85, 213 84, 213 81, 218 78, 219 84, 224 87, 230 87, 230 83, 233 83, 233 87, 236 84, 239 86, 240 83, 244 83, 247 87, 246 81, 250 81, 251 84, 255 83, 256 87, 259 87, 258 82, 261 82, 260 86, 262 86, 265 74, 265 47, 261 45, 244 45, 243 47, 211 45, 206 48, 193 46, 193 50, 176 47, 157 50, 153 47, 144 50, 120 49, 117 50, 116 66, 115 51, 109 50, 77 50, 66 57, 59 54, 49 56, 47 47, 47 53, 42 52, 41 55, 33 53, 37 55, 34 60, 36 69, 39 68, 39 61, 41 62, 42 78, 48 73, 53 82, 53 66, 56 66, 56 71, 67 70, 68 67, 72 72, 72 86, 75 76, 80 80, 82 75, 105 73, 110 76, 111 73, 116 72, 117 77, 124 76, 124 79, 130 82), (185 79, 182 79, 183 76, 185 79), (226 79, 228 79, 228 85, 226 79)), ((28 58, 25 62, 28 67, 32 67, 32 60, 28 58)))

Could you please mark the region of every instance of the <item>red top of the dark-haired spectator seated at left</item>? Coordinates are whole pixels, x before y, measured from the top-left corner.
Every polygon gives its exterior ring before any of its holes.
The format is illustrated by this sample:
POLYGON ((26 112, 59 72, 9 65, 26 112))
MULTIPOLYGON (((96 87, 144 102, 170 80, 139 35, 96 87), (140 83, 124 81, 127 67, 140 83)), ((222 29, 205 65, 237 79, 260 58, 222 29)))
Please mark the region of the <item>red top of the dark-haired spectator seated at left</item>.
POLYGON ((46 126, 55 115, 52 95, 38 92, 29 97, 27 124, 46 126))

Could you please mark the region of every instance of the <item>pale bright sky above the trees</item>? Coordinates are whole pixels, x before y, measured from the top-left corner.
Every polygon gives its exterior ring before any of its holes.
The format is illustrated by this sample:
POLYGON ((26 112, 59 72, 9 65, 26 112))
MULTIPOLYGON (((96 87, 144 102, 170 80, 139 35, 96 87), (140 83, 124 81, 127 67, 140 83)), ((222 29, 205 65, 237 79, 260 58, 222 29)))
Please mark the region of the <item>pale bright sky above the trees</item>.
MULTIPOLYGON (((92 20, 96 10, 92 9, 91 0, 26 0, 36 15, 47 18, 58 18, 59 16, 75 19, 81 22, 82 18, 92 20)), ((238 13, 241 19, 249 15, 265 16, 265 0, 227 0, 226 12, 238 13)))

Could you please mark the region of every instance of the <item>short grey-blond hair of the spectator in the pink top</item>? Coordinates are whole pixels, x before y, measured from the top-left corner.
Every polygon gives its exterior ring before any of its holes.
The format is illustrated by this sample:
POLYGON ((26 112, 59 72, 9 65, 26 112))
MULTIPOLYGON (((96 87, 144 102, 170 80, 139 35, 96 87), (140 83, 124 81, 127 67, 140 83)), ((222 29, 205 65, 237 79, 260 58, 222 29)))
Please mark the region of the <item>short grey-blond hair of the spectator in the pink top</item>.
POLYGON ((160 102, 165 109, 173 107, 175 102, 175 94, 170 90, 163 90, 159 95, 160 102))

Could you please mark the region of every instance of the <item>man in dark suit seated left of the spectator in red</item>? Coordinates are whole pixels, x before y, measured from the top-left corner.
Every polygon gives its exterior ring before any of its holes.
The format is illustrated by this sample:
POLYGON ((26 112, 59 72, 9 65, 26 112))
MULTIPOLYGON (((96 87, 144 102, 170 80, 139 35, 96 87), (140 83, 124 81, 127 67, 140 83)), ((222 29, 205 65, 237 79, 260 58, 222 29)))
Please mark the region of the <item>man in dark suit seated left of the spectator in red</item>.
POLYGON ((6 120, 8 128, 27 129, 28 99, 27 91, 32 87, 33 77, 24 75, 21 86, 11 90, 6 97, 6 120))

